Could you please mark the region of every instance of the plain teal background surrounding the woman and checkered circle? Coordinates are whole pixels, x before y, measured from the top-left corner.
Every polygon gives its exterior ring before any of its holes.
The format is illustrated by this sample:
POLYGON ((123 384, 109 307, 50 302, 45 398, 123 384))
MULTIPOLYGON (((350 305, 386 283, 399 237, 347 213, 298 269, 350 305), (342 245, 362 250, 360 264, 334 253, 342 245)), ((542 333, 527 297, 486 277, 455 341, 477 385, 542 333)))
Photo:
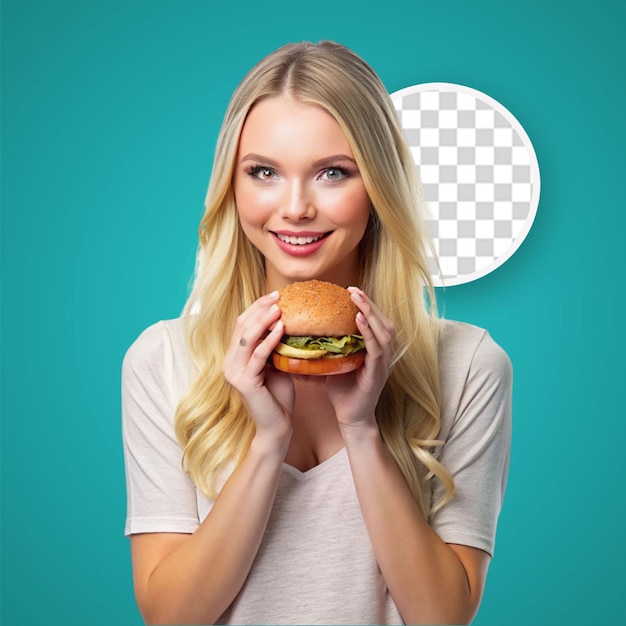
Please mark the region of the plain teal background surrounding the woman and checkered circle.
POLYGON ((228 98, 336 39, 390 92, 507 107, 541 168, 502 267, 441 293, 515 367, 511 473, 475 624, 625 623, 623 3, 2 2, 2 623, 140 624, 123 354, 176 316, 228 98))

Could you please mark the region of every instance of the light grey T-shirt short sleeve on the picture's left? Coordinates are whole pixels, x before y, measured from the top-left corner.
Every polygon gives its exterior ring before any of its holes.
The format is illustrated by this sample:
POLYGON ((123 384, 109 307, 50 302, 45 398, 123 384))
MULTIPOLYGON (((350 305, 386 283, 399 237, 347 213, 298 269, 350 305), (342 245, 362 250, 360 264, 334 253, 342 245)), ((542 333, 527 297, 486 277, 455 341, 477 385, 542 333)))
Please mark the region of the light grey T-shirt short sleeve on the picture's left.
POLYGON ((192 533, 199 525, 196 490, 174 434, 175 403, 172 345, 159 322, 139 336, 122 365, 126 535, 192 533))

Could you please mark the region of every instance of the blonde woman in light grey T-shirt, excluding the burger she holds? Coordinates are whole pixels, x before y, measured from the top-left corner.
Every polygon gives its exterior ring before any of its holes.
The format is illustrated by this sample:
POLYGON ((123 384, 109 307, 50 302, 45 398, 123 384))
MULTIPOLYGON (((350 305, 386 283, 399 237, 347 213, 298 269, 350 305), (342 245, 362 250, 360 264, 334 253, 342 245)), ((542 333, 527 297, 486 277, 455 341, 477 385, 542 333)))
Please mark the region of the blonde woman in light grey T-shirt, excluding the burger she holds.
POLYGON ((292 44, 235 91, 184 315, 123 368, 133 577, 150 623, 467 623, 506 482, 510 363, 435 314, 423 197, 376 74, 292 44), (349 287, 356 372, 267 365, 277 290, 349 287))

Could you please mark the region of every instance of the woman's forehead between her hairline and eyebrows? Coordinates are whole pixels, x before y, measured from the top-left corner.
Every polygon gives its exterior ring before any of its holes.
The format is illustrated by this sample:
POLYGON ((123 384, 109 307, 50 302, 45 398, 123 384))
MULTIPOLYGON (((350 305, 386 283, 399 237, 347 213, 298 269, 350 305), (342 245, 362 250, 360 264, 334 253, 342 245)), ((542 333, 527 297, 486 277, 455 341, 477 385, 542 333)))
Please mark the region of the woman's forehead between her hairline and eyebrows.
POLYGON ((352 154, 337 120, 319 105, 276 96, 252 107, 239 139, 240 154, 263 150, 287 153, 300 148, 352 154))

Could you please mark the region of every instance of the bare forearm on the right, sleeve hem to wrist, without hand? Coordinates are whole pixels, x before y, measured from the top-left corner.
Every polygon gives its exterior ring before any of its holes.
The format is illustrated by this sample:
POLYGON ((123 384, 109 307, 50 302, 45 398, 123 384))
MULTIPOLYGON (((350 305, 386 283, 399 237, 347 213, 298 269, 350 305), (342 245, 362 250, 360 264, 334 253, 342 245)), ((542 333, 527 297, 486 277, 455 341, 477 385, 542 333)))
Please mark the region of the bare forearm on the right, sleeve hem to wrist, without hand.
POLYGON ((342 430, 374 553, 407 624, 465 624, 482 596, 489 555, 444 543, 428 525, 377 426, 342 430))

